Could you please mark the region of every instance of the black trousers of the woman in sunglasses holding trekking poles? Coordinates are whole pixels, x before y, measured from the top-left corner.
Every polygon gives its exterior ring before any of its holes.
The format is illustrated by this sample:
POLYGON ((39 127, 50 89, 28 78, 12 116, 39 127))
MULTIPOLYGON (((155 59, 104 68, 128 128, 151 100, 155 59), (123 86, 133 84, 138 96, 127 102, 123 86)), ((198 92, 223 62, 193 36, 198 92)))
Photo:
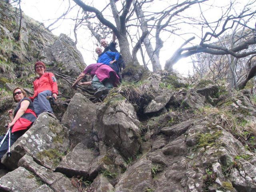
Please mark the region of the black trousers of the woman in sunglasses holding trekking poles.
MULTIPOLYGON (((20 138, 20 136, 22 136, 26 131, 27 129, 11 133, 10 146, 12 146, 12 144, 14 144, 14 142, 16 142, 16 140, 20 138)), ((0 137, 0 142, 2 141, 3 138, 4 136, 0 137)), ((8 148, 9 148, 9 136, 7 135, 2 146, 0 147, 0 159, 2 159, 4 154, 8 151, 8 148)))

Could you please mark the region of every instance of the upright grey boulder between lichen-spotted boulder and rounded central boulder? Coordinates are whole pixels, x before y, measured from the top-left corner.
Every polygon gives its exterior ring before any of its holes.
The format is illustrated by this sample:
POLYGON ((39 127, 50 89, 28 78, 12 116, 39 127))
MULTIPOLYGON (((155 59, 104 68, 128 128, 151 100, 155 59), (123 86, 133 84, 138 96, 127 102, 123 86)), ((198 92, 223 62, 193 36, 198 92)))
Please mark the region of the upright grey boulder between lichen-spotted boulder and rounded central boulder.
POLYGON ((72 146, 82 142, 88 148, 94 147, 93 126, 96 122, 97 108, 98 106, 82 94, 76 93, 73 96, 61 121, 64 126, 70 129, 72 146))

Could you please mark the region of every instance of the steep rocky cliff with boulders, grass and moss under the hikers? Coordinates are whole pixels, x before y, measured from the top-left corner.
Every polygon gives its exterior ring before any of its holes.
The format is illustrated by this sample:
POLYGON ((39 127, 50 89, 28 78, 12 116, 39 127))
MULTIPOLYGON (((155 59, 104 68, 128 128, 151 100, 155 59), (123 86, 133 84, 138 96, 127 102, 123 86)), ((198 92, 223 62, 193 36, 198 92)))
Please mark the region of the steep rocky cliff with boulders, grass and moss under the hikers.
POLYGON ((0 8, 1 45, 31 46, 22 55, 1 50, 1 62, 12 67, 0 68, 2 114, 11 108, 12 87, 32 92, 37 59, 56 75, 62 97, 53 106, 55 116, 38 116, 11 147, 12 156, 2 158, 0 190, 256 191, 252 82, 238 92, 223 82, 191 84, 177 74, 144 72, 140 81, 124 81, 94 98, 91 87, 70 89, 85 66, 72 40, 24 16, 26 28, 16 42, 8 25, 16 20, 15 9, 5 3, 0 8))

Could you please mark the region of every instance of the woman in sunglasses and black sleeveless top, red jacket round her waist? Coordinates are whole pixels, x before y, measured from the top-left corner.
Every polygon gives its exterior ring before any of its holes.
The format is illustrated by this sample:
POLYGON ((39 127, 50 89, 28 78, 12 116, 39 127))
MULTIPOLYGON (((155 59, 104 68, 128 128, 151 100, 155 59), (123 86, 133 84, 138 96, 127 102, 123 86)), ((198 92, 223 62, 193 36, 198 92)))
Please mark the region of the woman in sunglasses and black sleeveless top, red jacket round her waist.
MULTIPOLYGON (((18 106, 14 110, 9 110, 9 117, 12 120, 8 124, 8 129, 11 128, 10 146, 20 138, 36 120, 36 113, 34 112, 34 106, 32 101, 26 97, 26 92, 19 87, 16 87, 12 92, 12 96, 15 102, 18 102, 18 106)), ((0 142, 4 136, 0 137, 0 142)), ((0 159, 8 150, 8 137, 2 143, 0 147, 0 159)))

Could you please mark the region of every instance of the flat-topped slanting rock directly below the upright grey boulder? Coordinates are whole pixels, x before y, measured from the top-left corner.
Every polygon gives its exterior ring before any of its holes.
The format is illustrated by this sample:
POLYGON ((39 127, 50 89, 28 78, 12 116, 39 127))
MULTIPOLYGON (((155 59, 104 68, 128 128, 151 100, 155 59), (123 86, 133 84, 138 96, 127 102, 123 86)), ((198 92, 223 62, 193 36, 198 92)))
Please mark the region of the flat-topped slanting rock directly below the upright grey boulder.
POLYGON ((79 143, 60 162, 56 171, 66 176, 83 176, 88 179, 92 161, 96 158, 94 151, 88 149, 84 144, 79 143))

